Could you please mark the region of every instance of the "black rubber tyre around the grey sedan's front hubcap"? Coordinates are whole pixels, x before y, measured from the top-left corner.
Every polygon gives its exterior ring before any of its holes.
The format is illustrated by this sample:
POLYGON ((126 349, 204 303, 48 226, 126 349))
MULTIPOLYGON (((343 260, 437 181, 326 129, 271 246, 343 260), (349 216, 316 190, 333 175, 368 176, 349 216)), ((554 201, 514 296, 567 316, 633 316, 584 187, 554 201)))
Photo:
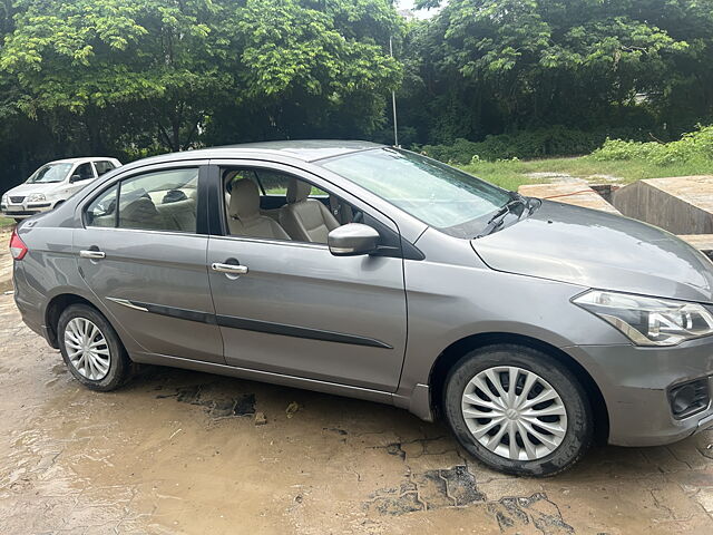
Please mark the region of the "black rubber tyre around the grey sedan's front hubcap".
MULTIPOLYGON (((518 376, 516 373, 515 377, 519 379, 521 374, 518 376)), ((488 346, 463 356, 446 378, 443 412, 456 438, 468 453, 490 468, 506 474, 538 477, 553 476, 577 463, 592 444, 593 416, 584 389, 574 374, 556 359, 527 347, 514 344, 488 346), (549 455, 535 460, 510 459, 491 451, 480 444, 468 428, 461 408, 466 387, 478 373, 489 368, 501 366, 517 367, 539 376, 559 396, 566 410, 566 432, 559 446, 549 455)), ((488 424, 494 420, 475 421, 488 424)), ((496 430, 491 432, 496 434, 497 430, 498 428, 496 427, 496 430)), ((518 436, 518 439, 521 442, 521 437, 518 436)), ((509 444, 509 438, 504 440, 509 444)))

